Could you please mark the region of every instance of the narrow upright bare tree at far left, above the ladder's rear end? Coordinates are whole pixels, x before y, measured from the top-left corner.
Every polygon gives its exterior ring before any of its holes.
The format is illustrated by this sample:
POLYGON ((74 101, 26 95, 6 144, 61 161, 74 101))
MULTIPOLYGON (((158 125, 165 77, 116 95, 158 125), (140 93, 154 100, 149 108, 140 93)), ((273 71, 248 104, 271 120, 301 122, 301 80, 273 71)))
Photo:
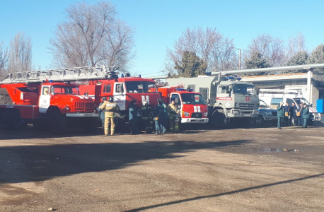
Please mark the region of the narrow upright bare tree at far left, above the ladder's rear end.
POLYGON ((32 42, 25 33, 18 32, 10 43, 9 72, 30 71, 32 66, 32 42))

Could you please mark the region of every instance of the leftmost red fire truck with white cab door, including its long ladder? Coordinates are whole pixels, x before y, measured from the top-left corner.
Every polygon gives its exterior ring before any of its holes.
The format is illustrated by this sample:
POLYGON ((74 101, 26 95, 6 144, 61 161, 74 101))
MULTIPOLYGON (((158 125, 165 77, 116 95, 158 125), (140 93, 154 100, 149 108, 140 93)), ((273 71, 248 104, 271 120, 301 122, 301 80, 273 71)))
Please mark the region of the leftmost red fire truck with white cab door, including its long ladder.
POLYGON ((33 124, 54 133, 67 126, 96 129, 99 115, 92 98, 80 95, 79 86, 69 81, 107 78, 111 73, 105 66, 9 73, 0 81, 0 128, 33 124))

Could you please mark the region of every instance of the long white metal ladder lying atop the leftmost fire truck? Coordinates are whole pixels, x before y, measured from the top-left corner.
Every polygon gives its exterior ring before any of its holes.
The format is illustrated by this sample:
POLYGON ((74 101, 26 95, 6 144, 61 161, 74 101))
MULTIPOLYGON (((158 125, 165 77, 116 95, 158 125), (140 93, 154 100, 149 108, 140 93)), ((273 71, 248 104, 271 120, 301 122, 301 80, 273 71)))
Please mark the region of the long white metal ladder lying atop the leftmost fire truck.
POLYGON ((68 69, 8 73, 7 76, 0 79, 0 84, 117 79, 116 70, 117 68, 112 66, 84 66, 68 69))

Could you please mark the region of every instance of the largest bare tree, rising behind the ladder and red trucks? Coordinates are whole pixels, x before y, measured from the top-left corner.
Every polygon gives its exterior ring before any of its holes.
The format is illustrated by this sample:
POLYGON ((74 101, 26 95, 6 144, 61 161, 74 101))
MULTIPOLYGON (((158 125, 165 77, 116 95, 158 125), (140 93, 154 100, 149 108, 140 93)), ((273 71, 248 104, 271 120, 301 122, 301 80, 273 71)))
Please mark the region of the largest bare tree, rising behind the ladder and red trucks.
POLYGON ((115 6, 105 1, 69 6, 67 21, 57 25, 50 39, 54 66, 126 66, 133 57, 134 32, 116 15, 115 6))

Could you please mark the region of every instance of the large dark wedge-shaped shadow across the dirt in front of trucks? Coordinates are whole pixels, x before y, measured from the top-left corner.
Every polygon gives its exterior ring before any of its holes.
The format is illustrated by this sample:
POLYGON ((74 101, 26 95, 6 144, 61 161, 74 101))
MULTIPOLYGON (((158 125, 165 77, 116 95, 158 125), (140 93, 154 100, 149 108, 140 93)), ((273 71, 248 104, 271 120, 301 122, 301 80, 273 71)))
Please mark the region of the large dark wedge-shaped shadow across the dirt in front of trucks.
POLYGON ((175 153, 239 146, 248 142, 147 141, 6 146, 0 148, 0 183, 42 181, 83 172, 116 170, 143 160, 182 157, 175 153))

